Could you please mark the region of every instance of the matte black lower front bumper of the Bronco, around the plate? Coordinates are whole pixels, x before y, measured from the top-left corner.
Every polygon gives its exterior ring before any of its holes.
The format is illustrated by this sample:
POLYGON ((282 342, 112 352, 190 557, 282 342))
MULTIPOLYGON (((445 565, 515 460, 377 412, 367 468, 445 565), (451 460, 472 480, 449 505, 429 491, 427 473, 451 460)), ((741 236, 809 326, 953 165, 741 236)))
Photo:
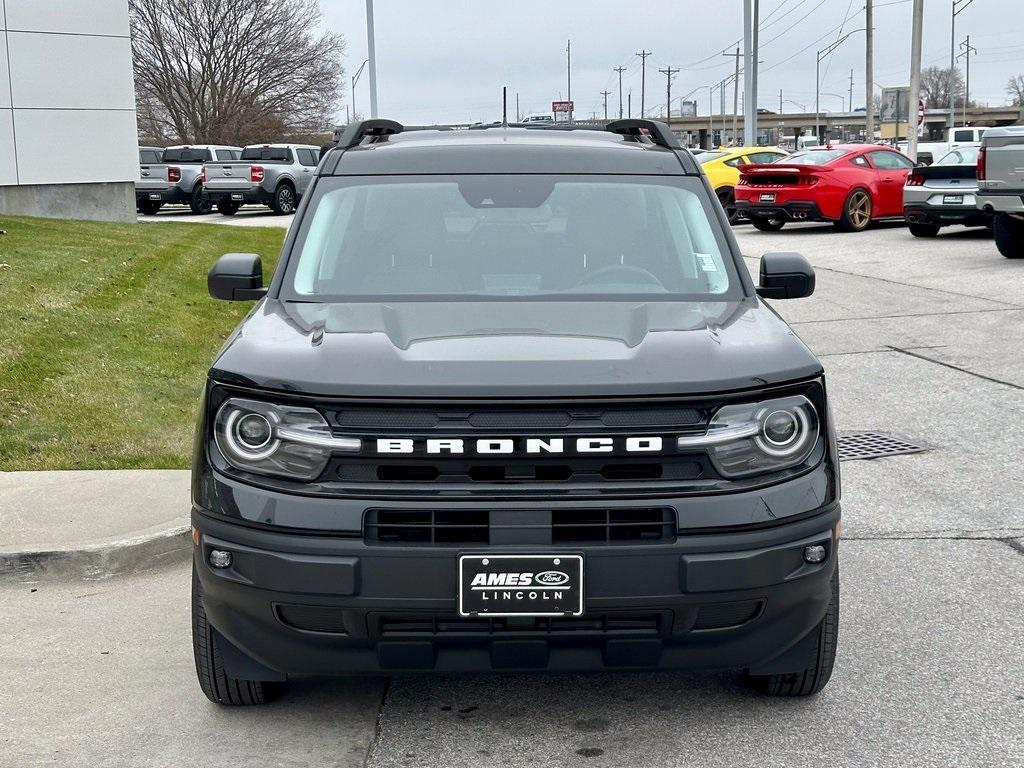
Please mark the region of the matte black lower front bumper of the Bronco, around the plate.
POLYGON ((684 531, 656 544, 481 550, 372 545, 193 512, 196 572, 225 667, 265 679, 622 668, 796 672, 793 649, 806 642, 830 598, 839 519, 834 503, 770 527, 684 531), (805 563, 804 548, 816 544, 826 559, 805 563), (211 568, 211 549, 230 551, 231 566, 211 568), (585 614, 459 617, 458 555, 473 552, 582 554, 585 614))

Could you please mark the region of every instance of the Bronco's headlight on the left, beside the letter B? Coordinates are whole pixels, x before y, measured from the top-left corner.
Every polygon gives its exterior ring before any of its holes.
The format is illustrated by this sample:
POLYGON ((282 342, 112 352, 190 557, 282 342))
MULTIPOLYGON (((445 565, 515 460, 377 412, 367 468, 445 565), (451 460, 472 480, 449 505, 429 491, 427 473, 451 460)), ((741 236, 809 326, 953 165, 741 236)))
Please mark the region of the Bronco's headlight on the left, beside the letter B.
POLYGON ((319 476, 331 455, 352 453, 357 437, 335 437, 311 408, 231 398, 217 411, 214 440, 236 469, 300 480, 319 476))

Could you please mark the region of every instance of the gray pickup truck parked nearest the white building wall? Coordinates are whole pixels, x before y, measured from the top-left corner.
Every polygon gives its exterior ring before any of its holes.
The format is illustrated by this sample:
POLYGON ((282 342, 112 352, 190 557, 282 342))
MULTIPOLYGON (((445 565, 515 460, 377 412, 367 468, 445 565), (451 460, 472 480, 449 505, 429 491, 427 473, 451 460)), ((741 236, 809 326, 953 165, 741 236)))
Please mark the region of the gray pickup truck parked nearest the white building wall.
POLYGON ((135 207, 152 216, 165 205, 187 205, 193 213, 210 213, 213 204, 203 193, 203 165, 238 160, 240 146, 189 144, 139 150, 139 180, 135 184, 135 207), (160 153, 159 157, 154 157, 160 153))

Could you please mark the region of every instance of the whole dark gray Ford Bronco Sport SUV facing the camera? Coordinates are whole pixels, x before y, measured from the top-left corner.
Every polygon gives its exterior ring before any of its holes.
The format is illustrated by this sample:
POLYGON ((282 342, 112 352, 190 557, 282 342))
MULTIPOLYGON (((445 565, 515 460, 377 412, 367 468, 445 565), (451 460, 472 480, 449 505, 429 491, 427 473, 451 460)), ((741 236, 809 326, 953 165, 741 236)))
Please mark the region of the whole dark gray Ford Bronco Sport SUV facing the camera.
POLYGON ((349 126, 196 433, 203 691, 291 676, 742 670, 828 681, 840 478, 822 369, 668 128, 349 126))

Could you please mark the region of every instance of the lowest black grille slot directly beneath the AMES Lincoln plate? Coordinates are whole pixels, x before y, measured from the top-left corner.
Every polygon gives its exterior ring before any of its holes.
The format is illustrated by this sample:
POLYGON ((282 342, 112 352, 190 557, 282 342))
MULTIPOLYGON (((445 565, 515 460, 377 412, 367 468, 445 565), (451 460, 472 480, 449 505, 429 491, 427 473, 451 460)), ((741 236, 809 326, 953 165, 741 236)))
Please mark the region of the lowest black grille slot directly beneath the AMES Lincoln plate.
POLYGON ((671 626, 671 616, 658 613, 603 613, 585 616, 436 616, 415 613, 377 617, 384 639, 431 637, 473 638, 539 636, 656 636, 671 626))

